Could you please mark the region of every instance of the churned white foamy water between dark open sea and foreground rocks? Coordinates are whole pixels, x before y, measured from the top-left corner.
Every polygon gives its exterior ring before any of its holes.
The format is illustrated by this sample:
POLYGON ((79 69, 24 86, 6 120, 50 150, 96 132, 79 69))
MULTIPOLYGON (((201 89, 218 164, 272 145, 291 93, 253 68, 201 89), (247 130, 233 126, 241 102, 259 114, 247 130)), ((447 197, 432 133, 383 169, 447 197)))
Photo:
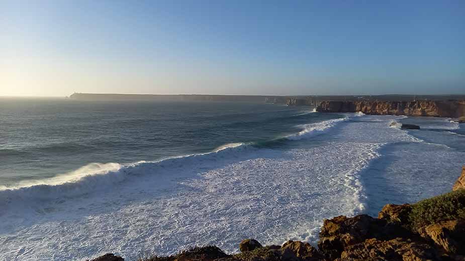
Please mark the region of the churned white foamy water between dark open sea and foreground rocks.
POLYGON ((440 194, 459 174, 463 152, 389 127, 401 117, 346 116, 304 126, 286 151, 228 145, 0 191, 0 259, 130 258, 194 244, 234 252, 247 237, 315 243, 323 218, 440 194))

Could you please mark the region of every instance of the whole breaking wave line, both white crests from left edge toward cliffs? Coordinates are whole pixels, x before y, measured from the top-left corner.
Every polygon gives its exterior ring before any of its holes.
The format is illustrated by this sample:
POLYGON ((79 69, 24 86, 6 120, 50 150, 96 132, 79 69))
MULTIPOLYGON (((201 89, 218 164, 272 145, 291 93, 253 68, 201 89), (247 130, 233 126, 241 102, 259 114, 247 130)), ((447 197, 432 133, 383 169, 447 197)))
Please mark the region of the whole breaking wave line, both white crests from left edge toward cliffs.
MULTIPOLYGON (((331 119, 317 123, 301 125, 298 134, 286 137, 286 140, 302 140, 324 134, 349 117, 331 119)), ((14 186, 0 186, 0 207, 6 209, 18 200, 53 200, 72 198, 94 191, 111 189, 126 182, 131 177, 160 175, 167 169, 203 164, 205 168, 226 163, 242 156, 245 152, 267 150, 254 143, 230 143, 217 147, 210 153, 194 154, 168 158, 155 162, 136 162, 131 164, 91 163, 75 171, 57 175, 53 178, 22 181, 14 186)), ((2 211, 0 210, 0 215, 2 211)))

